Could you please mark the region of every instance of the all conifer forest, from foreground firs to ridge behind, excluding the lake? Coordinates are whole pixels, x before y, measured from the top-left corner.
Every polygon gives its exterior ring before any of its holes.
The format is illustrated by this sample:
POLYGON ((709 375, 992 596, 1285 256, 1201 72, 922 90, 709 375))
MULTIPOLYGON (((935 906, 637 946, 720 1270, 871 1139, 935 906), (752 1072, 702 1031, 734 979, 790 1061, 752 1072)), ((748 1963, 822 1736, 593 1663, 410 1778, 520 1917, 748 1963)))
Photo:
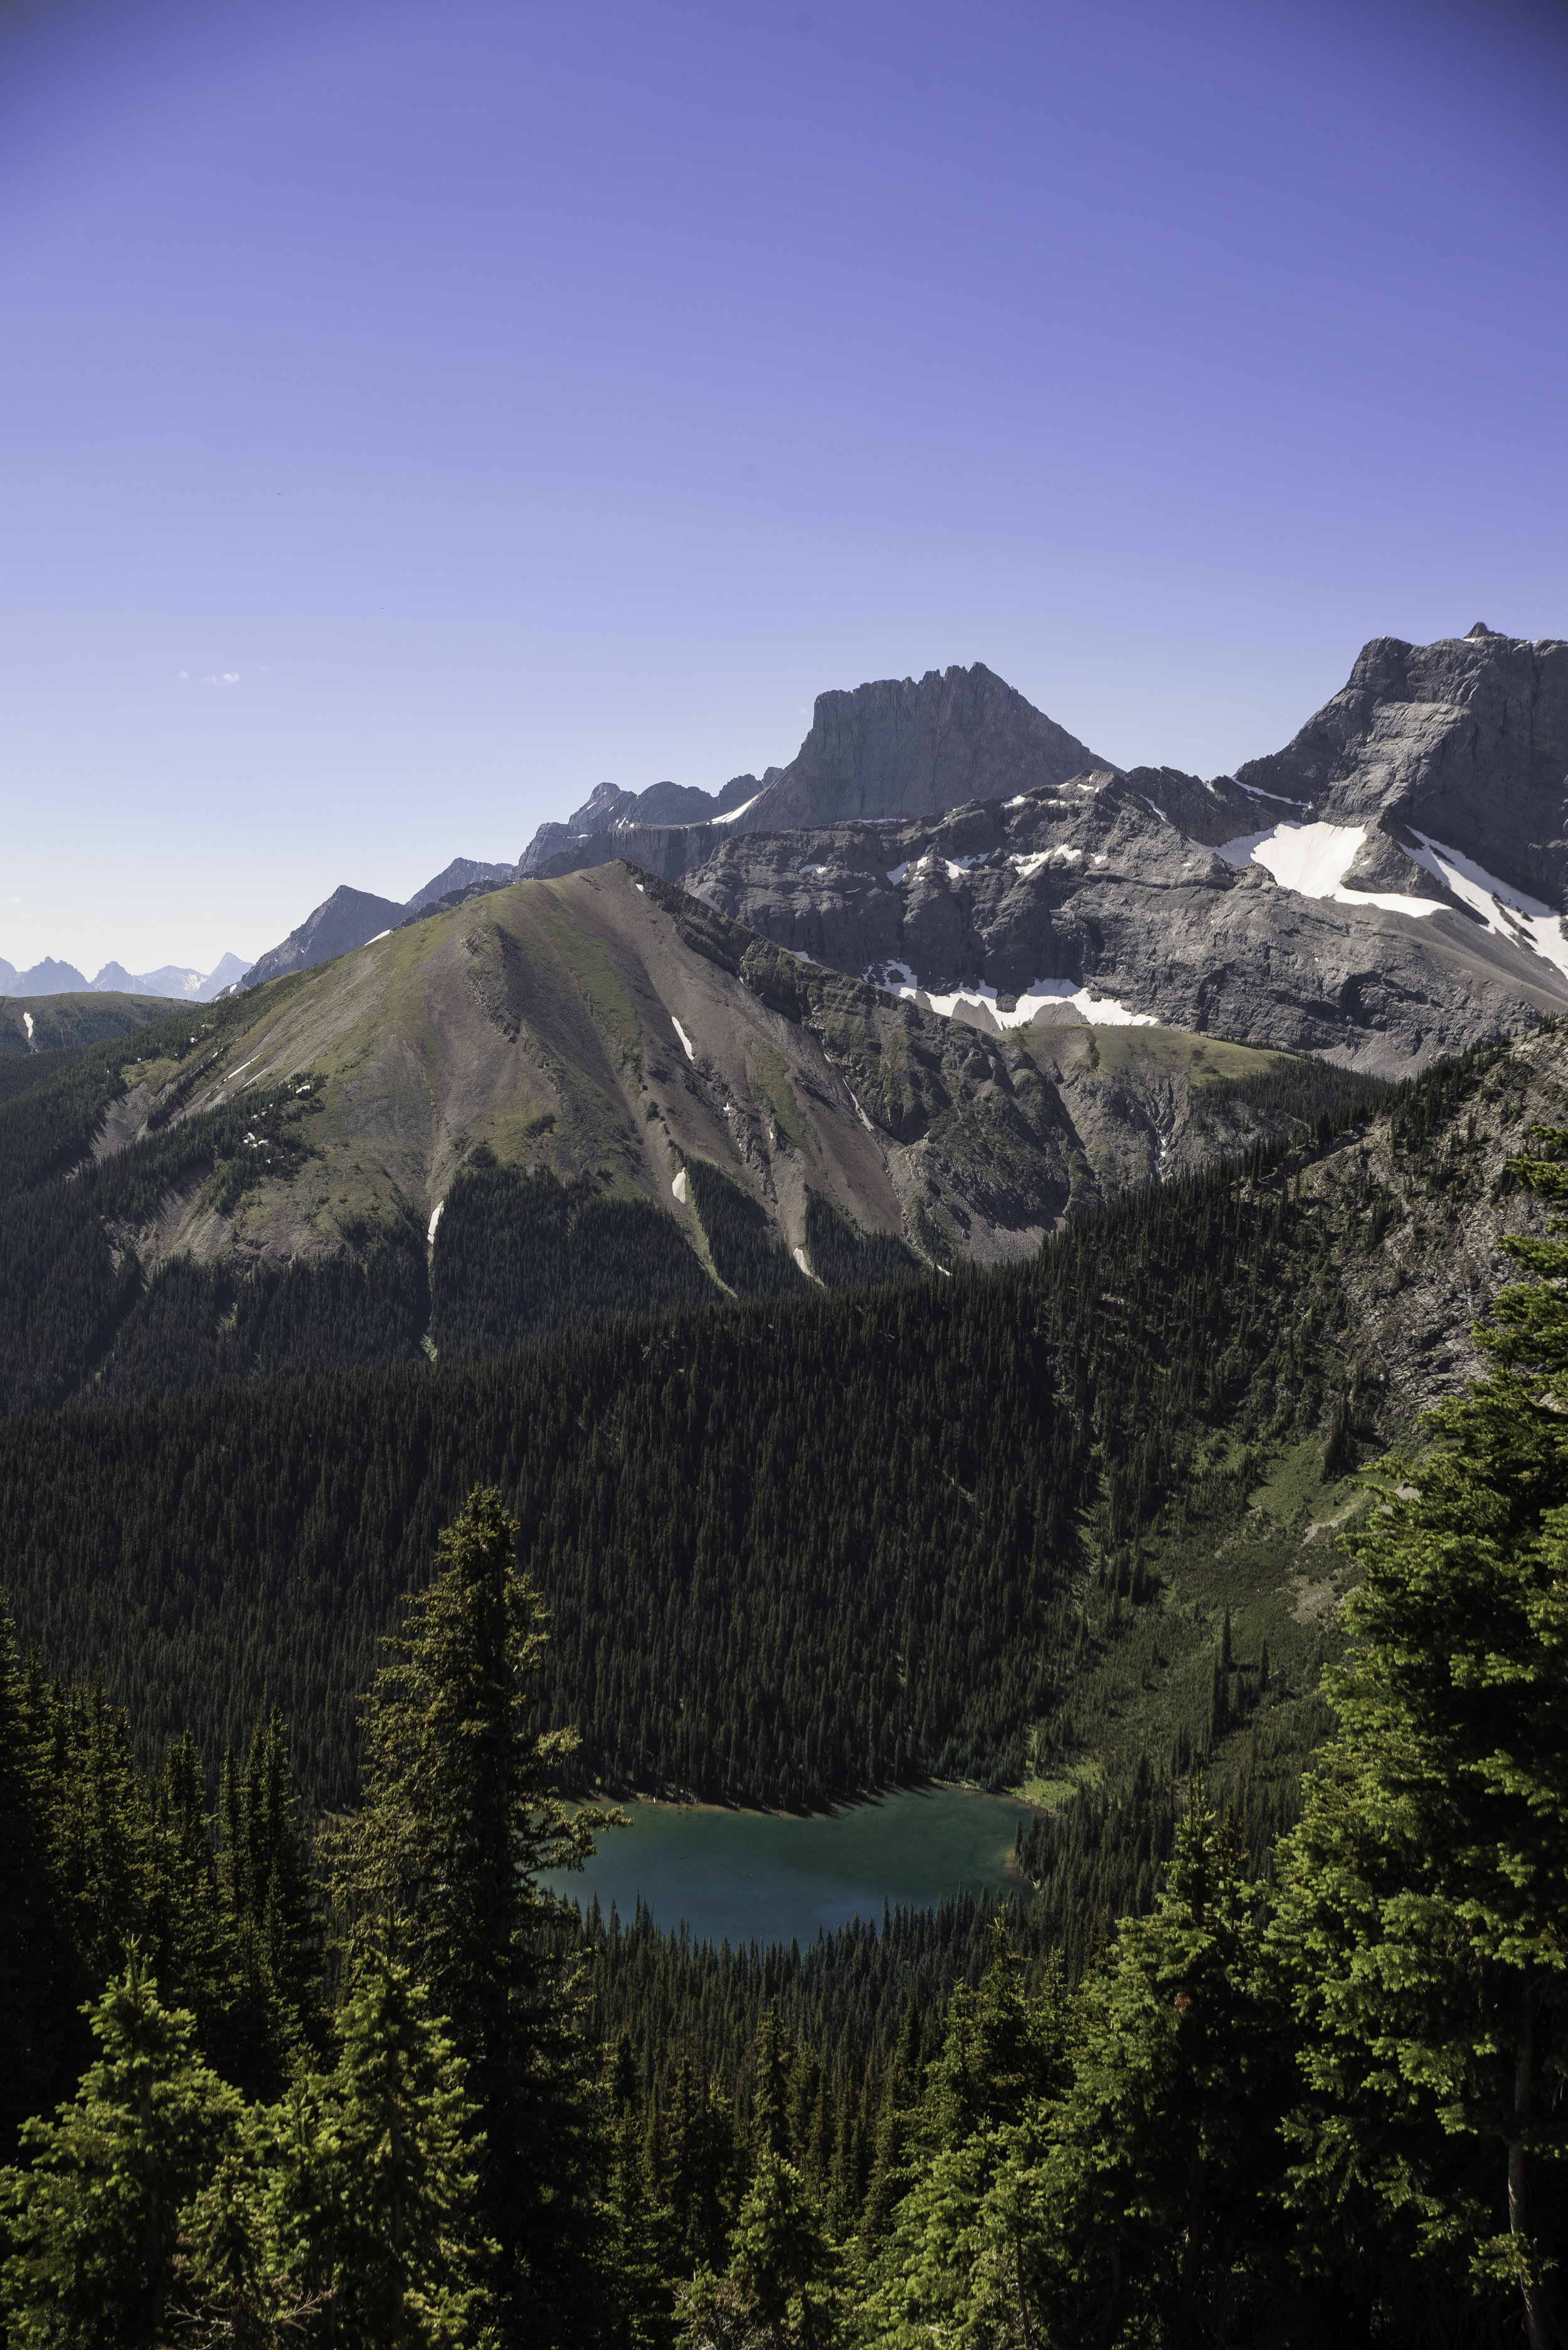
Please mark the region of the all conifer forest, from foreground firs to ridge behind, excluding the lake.
MULTIPOLYGON (((1434 1224, 1507 1069, 1387 1102, 1434 1224)), ((718 1194, 763 1295, 570 1332, 615 1238, 540 1189, 500 1361, 481 1159, 434 1363, 5 1422, 7 2338, 1561 2345, 1563 1241, 1345 1626, 1258 1600, 1261 1462, 1378 1443, 1387 1194, 1300 1180, 1366 1116, 998 1274, 819 1215, 880 1288, 768 1295, 718 1194), (732 1950, 540 1885, 617 1791, 927 1774, 1035 1791, 1005 1904, 732 1950)))

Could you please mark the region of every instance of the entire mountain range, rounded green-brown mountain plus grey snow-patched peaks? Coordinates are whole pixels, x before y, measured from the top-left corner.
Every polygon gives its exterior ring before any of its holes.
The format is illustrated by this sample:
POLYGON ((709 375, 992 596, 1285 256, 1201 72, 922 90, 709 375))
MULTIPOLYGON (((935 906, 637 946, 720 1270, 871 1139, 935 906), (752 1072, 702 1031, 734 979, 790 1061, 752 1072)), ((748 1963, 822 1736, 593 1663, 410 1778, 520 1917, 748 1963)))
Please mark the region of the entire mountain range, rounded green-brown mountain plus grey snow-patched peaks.
POLYGON ((200 1018, 0 1003, 12 1290, 66 1349, 16 1335, 12 1408, 1033 1255, 1568 1013, 1566 811, 1561 642, 1378 639, 1209 780, 946 670, 723 792, 343 886, 200 1018))

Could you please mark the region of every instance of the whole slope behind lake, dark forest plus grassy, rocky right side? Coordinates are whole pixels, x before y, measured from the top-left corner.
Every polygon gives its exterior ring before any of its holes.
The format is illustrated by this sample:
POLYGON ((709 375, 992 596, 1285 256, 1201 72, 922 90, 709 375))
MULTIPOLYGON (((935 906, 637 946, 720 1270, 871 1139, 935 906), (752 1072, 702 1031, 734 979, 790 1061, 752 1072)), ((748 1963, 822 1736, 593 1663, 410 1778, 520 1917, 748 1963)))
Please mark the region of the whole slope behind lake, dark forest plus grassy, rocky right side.
POLYGON ((1237 1718, 1284 1781, 1338 1478, 1469 1368, 1495 1234, 1530 1222, 1502 1159, 1563 1095, 1547 1029, 1298 1152, 1122 1194, 1028 1264, 14 1419, 2 1572, 23 1633, 141 1692, 148 1737, 192 1720, 216 1751, 282 1701, 331 1795, 376 1633, 484 1478, 589 1777, 1070 1786, 1237 1718))

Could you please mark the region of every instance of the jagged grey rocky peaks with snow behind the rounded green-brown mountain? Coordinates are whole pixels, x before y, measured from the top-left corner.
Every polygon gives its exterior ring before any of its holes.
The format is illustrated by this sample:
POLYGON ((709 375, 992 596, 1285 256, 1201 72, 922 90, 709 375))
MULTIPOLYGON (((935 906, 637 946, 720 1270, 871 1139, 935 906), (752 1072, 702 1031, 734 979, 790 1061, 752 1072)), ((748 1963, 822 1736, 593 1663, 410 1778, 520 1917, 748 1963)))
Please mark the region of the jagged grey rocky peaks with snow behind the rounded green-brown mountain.
POLYGON ((822 693, 789 766, 601 783, 514 867, 338 888, 246 987, 613 860, 810 961, 1002 1032, 1246 1036, 1404 1074, 1568 1010, 1568 644, 1373 639, 1282 752, 1122 773, 993 670, 822 693))

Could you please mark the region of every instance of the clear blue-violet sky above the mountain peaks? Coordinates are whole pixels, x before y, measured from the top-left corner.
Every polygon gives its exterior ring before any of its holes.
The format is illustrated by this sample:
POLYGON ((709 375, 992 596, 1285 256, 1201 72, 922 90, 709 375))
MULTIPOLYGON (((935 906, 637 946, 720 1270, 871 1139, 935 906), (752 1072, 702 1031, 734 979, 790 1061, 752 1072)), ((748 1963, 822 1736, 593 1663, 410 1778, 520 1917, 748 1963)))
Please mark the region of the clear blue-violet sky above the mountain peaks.
POLYGON ((1509 0, 9 9, 0 954, 256 954, 866 677, 1216 773, 1568 634, 1566 125, 1509 0))

